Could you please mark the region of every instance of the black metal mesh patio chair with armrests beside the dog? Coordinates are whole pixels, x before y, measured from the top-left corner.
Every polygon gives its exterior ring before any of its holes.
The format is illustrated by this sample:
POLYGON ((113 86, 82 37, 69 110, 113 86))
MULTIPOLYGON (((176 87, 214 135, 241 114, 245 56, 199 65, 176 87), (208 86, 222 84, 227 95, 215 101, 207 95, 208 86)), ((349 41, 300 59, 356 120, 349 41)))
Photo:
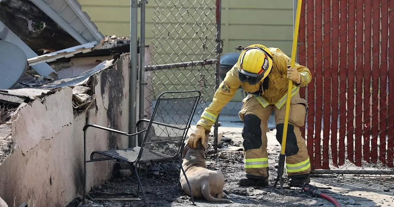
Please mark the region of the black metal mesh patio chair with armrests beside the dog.
MULTIPOLYGON (((147 160, 171 160, 180 156, 184 147, 184 141, 191 121, 195 114, 197 104, 199 103, 201 92, 199 90, 192 91, 169 91, 161 93, 154 106, 151 119, 141 119, 137 122, 137 126, 142 122, 148 122, 145 130, 135 134, 117 131, 107 127, 94 124, 84 126, 84 195, 86 198, 86 163, 97 162, 102 160, 123 160, 135 164, 134 170, 138 180, 138 188, 136 197, 139 196, 139 190, 142 191, 144 205, 146 206, 145 191, 143 190, 140 179, 140 162, 147 160), (127 149, 112 149, 106 151, 93 151, 90 160, 86 160, 86 130, 89 127, 109 131, 110 133, 122 134, 127 137, 136 136, 145 132, 145 136, 139 147, 127 149), (138 166, 138 167, 137 167, 138 166), (137 170, 138 168, 138 170, 137 170)), ((182 156, 180 156, 180 168, 186 178, 191 192, 190 184, 186 173, 182 168, 182 156)), ((106 199, 101 199, 106 200, 106 199)), ((191 201, 194 205, 193 194, 191 201)))

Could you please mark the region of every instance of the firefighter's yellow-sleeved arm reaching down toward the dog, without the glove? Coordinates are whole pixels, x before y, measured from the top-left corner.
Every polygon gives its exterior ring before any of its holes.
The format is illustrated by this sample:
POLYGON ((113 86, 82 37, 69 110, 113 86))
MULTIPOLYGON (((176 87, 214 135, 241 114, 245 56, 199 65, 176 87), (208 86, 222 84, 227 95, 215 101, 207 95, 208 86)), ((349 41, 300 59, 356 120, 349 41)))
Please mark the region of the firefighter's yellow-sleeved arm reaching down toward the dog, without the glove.
POLYGON ((204 127, 206 131, 211 131, 212 125, 216 122, 217 115, 220 113, 221 109, 229 103, 240 87, 241 81, 238 78, 237 71, 238 68, 234 65, 234 67, 227 72, 223 82, 221 82, 219 88, 215 92, 212 103, 204 109, 201 119, 197 122, 197 125, 204 127))

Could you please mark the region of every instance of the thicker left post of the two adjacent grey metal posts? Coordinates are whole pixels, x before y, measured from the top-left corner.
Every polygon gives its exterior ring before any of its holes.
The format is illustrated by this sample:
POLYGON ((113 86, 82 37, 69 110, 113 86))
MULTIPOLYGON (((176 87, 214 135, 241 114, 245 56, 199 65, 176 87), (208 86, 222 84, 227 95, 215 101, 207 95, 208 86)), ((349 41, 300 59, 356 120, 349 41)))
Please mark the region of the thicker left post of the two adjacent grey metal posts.
MULTIPOLYGON (((130 134, 136 133, 137 116, 137 0, 130 0, 130 73, 129 73, 129 116, 128 131, 130 134)), ((128 147, 135 147, 135 137, 128 138, 128 147)))

